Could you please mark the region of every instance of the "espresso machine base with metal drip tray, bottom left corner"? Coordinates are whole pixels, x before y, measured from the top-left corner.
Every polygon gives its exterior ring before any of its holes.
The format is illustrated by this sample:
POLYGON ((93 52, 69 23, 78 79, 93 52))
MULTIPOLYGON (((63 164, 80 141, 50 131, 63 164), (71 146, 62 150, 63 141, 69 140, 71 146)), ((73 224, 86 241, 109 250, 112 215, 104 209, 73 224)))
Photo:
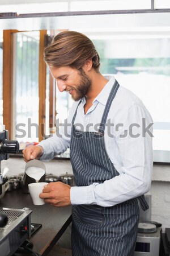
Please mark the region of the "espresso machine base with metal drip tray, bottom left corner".
POLYGON ((1 256, 10 256, 31 237, 31 212, 28 208, 0 208, 0 214, 7 216, 6 226, 0 228, 1 256))

